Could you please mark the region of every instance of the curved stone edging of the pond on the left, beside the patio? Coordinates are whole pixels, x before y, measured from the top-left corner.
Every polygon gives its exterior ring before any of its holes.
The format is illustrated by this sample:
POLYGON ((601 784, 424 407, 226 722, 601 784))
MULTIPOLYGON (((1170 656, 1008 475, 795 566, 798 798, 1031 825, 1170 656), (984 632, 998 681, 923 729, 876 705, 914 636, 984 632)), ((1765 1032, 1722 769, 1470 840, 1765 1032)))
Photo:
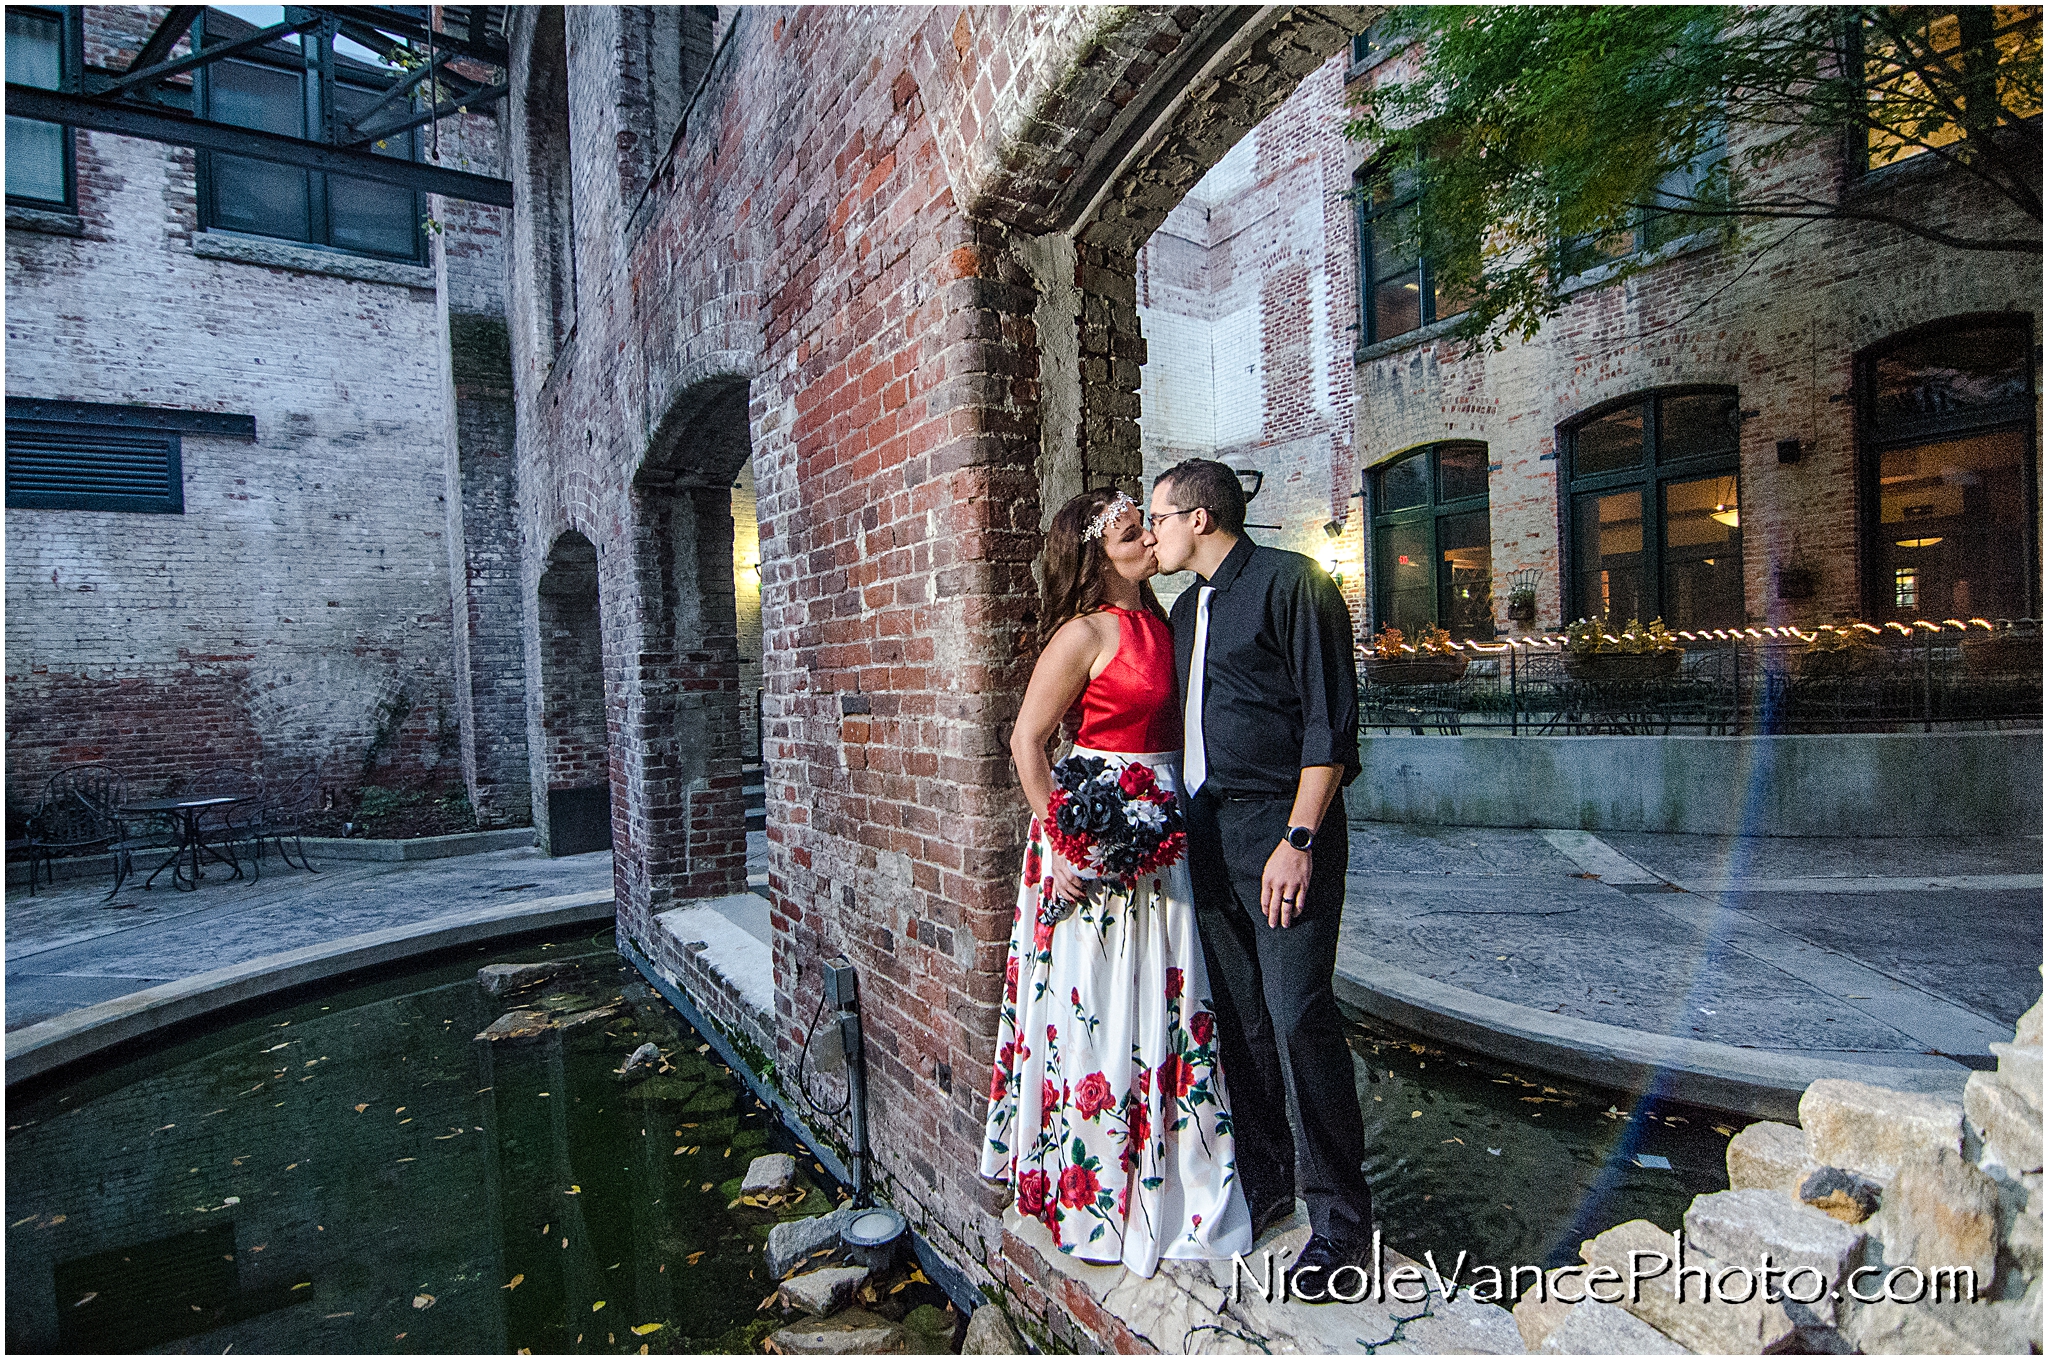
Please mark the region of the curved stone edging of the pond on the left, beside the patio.
POLYGON ((264 954, 225 969, 180 977, 160 987, 74 1010, 29 1024, 6 1036, 6 1086, 39 1077, 66 1063, 92 1057, 182 1020, 195 1020, 240 1002, 289 987, 326 981, 356 969, 397 963, 457 944, 475 944, 528 930, 610 920, 612 889, 532 897, 473 911, 451 911, 408 926, 369 930, 281 954, 264 954))

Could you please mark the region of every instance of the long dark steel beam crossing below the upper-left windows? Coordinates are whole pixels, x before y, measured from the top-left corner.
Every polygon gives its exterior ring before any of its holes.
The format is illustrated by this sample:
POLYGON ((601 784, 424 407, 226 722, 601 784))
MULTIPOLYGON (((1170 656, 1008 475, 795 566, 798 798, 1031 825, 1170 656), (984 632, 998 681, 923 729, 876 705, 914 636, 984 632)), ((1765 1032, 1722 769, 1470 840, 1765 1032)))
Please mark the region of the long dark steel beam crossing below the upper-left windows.
POLYGON ((446 170, 416 160, 375 156, 371 152, 350 152, 346 147, 305 141, 301 137, 281 137, 252 127, 229 127, 227 123, 207 123, 203 119, 182 119, 160 113, 145 104, 104 104, 78 94, 57 90, 35 90, 31 86, 6 86, 8 117, 37 119, 41 123, 66 123, 121 137, 141 137, 145 141, 166 141, 203 152, 225 152, 268 160, 281 166, 303 170, 326 170, 379 184, 397 184, 418 193, 467 199, 469 203, 492 203, 512 207, 512 182, 494 180, 467 170, 446 170))

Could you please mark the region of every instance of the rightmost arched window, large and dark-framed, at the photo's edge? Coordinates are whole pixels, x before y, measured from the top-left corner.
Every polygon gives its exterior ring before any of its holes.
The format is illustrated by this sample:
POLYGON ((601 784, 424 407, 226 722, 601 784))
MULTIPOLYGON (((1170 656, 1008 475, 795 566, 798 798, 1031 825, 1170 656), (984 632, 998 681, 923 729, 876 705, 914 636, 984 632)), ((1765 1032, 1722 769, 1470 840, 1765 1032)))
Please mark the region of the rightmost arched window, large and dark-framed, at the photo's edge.
POLYGON ((1866 612, 2040 612, 2034 332, 1999 317, 1894 340, 1858 365, 1866 612))

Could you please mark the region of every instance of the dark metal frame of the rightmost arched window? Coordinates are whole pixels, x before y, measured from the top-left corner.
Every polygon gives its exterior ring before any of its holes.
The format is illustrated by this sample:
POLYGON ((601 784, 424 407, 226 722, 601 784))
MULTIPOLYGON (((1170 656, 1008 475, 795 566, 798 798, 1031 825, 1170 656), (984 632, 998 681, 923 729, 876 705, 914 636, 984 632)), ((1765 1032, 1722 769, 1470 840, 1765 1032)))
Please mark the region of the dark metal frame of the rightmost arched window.
POLYGON ((1939 322, 1929 322, 1925 326, 1907 328, 1894 336, 1886 336, 1878 344, 1855 354, 1853 363, 1853 391, 1855 391, 1855 547, 1858 547, 1858 594, 1862 596, 1862 608, 1870 619, 1878 619, 1884 612, 1896 608, 1886 604, 1888 584, 1882 578, 1878 565, 1878 541, 1882 537, 1880 514, 1880 487, 1878 473, 1880 463, 1886 453, 1896 449, 1917 449, 1921 444, 1937 444, 1956 438, 1970 438, 1972 434, 2009 434, 2021 432, 2025 440, 2023 457, 2019 459, 2019 485, 2028 502, 2028 533, 2025 533, 2025 580, 2028 580, 2028 612, 2036 619, 2042 617, 2042 485, 2040 485, 2040 424, 2036 412, 2040 410, 2040 369, 2042 350, 2034 344, 2034 317, 2025 311, 1980 311, 1944 317, 1939 322), (1931 336, 1946 336, 1966 330, 2009 330, 2015 342, 2032 350, 2034 363, 2028 365, 2028 395, 2019 401, 2011 401, 1999 408, 1987 408, 1982 412, 1970 412, 1954 420, 1944 422, 1915 422, 1911 426, 1882 426, 1876 416, 1876 367, 1878 360, 1892 350, 1927 340, 1931 336))

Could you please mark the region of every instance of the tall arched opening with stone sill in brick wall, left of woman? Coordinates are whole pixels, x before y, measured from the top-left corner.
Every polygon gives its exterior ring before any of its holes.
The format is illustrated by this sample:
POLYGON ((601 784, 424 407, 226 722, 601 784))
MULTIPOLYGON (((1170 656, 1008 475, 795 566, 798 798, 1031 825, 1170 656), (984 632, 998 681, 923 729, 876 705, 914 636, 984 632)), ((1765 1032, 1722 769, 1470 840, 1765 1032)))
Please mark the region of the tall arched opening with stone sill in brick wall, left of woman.
POLYGON ((631 483, 637 637, 618 764, 631 809, 621 916, 635 928, 678 899, 748 885, 733 483, 750 453, 748 379, 711 377, 655 422, 631 483))

